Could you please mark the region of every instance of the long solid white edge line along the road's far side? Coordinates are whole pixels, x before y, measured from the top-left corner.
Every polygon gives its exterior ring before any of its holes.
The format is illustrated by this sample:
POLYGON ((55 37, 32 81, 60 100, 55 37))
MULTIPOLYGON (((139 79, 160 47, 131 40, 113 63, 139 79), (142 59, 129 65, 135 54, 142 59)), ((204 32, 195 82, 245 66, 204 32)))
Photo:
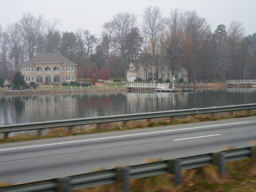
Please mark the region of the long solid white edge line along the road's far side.
POLYGON ((0 149, 0 151, 13 150, 13 149, 24 149, 24 148, 30 148, 30 147, 42 147, 42 146, 48 146, 48 145, 61 145, 61 144, 74 143, 74 142, 85 142, 85 141, 94 141, 94 140, 104 140, 104 139, 112 139, 112 138, 118 138, 118 137, 130 137, 130 136, 147 135, 147 134, 154 134, 154 133, 164 133, 164 132, 178 131, 178 130, 188 130, 188 129, 198 129, 198 128, 206 128, 206 127, 216 127, 216 126, 234 125, 234 124, 249 123, 249 122, 253 122, 253 121, 246 121, 246 122, 239 122, 239 123, 227 123, 227 124, 220 124, 220 125, 213 125, 213 126, 192 127, 192 128, 184 128, 184 129, 174 129, 174 130, 163 130, 163 131, 156 131, 156 132, 149 132, 149 133, 138 133, 138 134, 133 134, 133 135, 120 135, 120 136, 114 136, 114 137, 103 137, 103 138, 96 138, 96 139, 87 139, 87 140, 78 140, 78 141, 59 142, 59 143, 51 143, 51 144, 44 144, 44 145, 33 145, 33 146, 26 146, 26 147, 15 147, 15 148, 9 148, 9 149, 0 149))

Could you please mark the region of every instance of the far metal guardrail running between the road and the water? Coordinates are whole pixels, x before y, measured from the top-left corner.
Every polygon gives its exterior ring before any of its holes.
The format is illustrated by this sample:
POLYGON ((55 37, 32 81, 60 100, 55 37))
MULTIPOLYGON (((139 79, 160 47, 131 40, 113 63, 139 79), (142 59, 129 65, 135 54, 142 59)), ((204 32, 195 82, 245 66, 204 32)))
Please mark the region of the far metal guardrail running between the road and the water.
MULTIPOLYGON (((126 126, 127 121, 140 120, 140 119, 152 119, 161 117, 170 117, 173 120, 175 116, 186 116, 195 114, 211 114, 214 118, 214 113, 230 111, 230 116, 233 115, 233 111, 247 110, 248 114, 251 114, 251 109, 256 109, 256 104, 243 104, 243 105, 231 105, 223 107, 208 107, 208 108, 197 108, 197 109, 183 109, 183 110, 172 110, 172 111, 158 111, 148 112, 139 114, 126 114, 126 115, 115 115, 115 116, 100 116, 100 117, 89 117, 80 119, 66 119, 56 121, 43 121, 33 123, 19 123, 11 125, 1 125, 0 133, 6 133, 5 137, 8 137, 8 133, 25 131, 25 130, 42 130, 48 128, 57 127, 69 127, 70 131, 73 126, 88 125, 88 124, 101 124, 123 121, 123 126, 126 126)), ((40 132, 39 132, 40 133, 40 132)), ((39 134, 40 135, 40 134, 39 134)))

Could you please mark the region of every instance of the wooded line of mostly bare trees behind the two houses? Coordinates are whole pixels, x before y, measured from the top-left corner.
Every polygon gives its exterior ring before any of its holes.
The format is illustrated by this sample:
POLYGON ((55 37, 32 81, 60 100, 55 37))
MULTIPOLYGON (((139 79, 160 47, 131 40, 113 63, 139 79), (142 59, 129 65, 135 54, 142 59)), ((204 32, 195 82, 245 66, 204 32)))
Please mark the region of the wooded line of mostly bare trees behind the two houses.
POLYGON ((256 79, 256 33, 245 36, 243 24, 236 20, 212 33, 195 11, 172 9, 164 18, 159 7, 149 6, 142 24, 134 14, 119 13, 104 23, 100 36, 81 28, 61 33, 59 24, 59 19, 45 21, 26 12, 5 31, 0 26, 0 73, 11 79, 34 55, 60 53, 78 65, 78 78, 88 78, 91 65, 125 77, 133 62, 155 74, 164 65, 172 75, 185 67, 190 82, 256 79))

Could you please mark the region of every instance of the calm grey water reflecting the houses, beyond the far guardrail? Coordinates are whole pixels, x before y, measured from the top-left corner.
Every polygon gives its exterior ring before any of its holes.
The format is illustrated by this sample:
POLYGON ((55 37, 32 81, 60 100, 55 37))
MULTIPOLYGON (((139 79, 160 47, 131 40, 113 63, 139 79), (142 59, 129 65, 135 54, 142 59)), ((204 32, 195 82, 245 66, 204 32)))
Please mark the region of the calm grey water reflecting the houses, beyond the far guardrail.
POLYGON ((86 93, 1 96, 0 124, 256 103, 256 88, 193 93, 86 93))

